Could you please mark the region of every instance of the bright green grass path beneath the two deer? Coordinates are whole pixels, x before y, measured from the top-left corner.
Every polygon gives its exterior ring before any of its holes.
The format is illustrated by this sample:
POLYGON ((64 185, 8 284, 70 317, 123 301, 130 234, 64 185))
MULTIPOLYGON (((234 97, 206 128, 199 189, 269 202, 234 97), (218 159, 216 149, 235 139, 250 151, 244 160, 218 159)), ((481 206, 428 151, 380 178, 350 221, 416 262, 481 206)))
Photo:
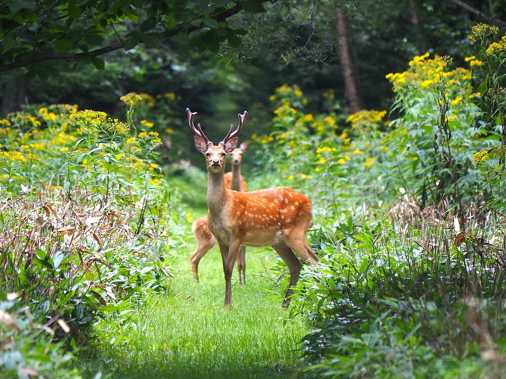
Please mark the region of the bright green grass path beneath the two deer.
MULTIPOLYGON (((265 250, 246 251, 245 285, 234 284, 233 307, 223 307, 225 281, 217 247, 201 260, 194 283, 189 255, 173 262, 170 294, 138 311, 129 351, 111 356, 114 378, 288 378, 297 374, 304 320, 283 322, 280 302, 264 300, 272 264, 265 250)), ((237 279, 237 270, 234 269, 237 279)), ((114 354, 118 354, 116 351, 114 354)), ((104 352, 104 356, 108 354, 104 352)))

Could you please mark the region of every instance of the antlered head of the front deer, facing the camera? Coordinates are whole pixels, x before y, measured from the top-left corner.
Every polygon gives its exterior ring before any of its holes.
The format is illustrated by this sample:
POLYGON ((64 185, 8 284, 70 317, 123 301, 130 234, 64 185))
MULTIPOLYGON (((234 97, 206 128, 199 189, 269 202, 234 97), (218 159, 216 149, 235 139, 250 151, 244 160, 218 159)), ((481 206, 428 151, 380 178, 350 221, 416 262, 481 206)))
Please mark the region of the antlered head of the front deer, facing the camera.
POLYGON ((191 112, 189 108, 186 108, 186 114, 188 115, 188 124, 190 125, 191 130, 193 130, 193 133, 195 133, 195 136, 193 137, 195 140, 195 147, 204 155, 207 170, 214 173, 225 170, 225 157, 232 153, 237 146, 238 138, 236 135, 242 129, 247 112, 244 111, 242 115, 238 115, 239 125, 237 126, 237 129, 234 130, 234 125, 230 125, 229 132, 217 146, 215 146, 213 142, 209 141, 209 139, 205 136, 200 124, 197 124, 197 127, 193 125, 193 117, 197 114, 197 112, 191 112))

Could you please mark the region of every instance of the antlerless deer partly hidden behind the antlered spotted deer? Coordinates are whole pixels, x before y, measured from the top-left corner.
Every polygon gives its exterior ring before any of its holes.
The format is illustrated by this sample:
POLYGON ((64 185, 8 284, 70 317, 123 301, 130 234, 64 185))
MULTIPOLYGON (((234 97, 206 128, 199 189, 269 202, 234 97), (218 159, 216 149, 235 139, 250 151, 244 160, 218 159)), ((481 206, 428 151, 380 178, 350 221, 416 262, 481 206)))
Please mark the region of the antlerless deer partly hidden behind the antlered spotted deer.
MULTIPOLYGON (((225 174, 225 188, 233 189, 234 191, 247 192, 247 185, 241 175, 241 161, 242 153, 246 150, 247 142, 242 142, 239 147, 236 147, 230 157, 232 158, 232 171, 225 174)), ((197 248, 191 255, 191 268, 193 272, 193 280, 198 283, 198 263, 200 259, 218 242, 215 236, 207 226, 207 215, 197 218, 193 221, 192 232, 197 240, 197 248)), ((241 246, 237 256, 237 271, 239 272, 239 283, 246 283, 246 261, 245 261, 246 248, 241 246)))

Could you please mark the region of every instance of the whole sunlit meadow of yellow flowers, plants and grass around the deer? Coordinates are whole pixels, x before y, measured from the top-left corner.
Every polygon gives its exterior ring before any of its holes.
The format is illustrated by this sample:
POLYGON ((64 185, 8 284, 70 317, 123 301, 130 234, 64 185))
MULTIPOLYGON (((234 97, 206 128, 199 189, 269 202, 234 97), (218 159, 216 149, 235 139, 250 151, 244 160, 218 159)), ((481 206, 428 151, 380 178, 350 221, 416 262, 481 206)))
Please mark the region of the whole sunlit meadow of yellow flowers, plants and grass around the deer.
POLYGON ((313 201, 308 241, 322 260, 304 267, 287 310, 286 266, 269 248, 246 253, 231 309, 216 248, 192 282, 205 173, 164 165, 163 133, 192 138, 153 129, 150 109, 171 96, 122 96, 123 121, 70 104, 0 120, 2 374, 502 377, 496 33, 473 28, 481 50, 466 67, 424 54, 388 74, 388 110, 344 115, 327 91, 315 114, 297 85, 272 94, 269 133, 252 136, 243 174, 251 189, 285 185, 313 201))

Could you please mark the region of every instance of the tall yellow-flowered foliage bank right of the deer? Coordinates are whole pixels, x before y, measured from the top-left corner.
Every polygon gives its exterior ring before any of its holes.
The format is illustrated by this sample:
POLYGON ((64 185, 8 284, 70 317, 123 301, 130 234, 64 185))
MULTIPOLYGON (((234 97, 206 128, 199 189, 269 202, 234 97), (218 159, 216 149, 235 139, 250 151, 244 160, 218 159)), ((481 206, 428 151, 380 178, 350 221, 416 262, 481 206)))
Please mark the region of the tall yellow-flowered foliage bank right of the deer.
MULTIPOLYGON (((296 86, 271 97, 272 132, 255 147, 262 169, 281 174, 259 181, 314 200, 310 240, 323 263, 304 269, 286 317, 315 322, 304 349, 318 376, 497 377, 504 369, 506 235, 503 200, 494 201, 505 189, 502 130, 473 90, 479 74, 450 62, 416 56, 387 75, 393 121, 376 110, 346 120, 306 114, 296 86)), ((280 300, 286 275, 280 261, 267 298, 280 300)))

